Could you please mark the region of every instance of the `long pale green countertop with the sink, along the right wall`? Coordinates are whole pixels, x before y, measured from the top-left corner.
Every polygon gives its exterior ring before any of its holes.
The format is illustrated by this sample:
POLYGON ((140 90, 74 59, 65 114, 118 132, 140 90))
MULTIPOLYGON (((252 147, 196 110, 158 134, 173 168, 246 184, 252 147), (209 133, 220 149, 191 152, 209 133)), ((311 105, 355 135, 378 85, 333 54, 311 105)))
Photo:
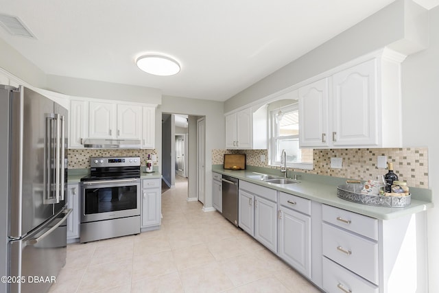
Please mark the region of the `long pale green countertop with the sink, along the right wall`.
MULTIPOLYGON (((381 220, 399 218, 403 215, 418 213, 433 207, 433 202, 431 202, 431 191, 429 189, 410 187, 412 198, 411 204, 408 207, 375 207, 349 202, 348 200, 338 198, 337 186, 345 184, 346 178, 334 178, 330 176, 295 172, 294 174, 302 176, 298 178, 300 183, 292 185, 271 185, 262 180, 249 178, 249 176, 254 176, 254 172, 281 176, 281 172, 277 169, 262 169, 248 166, 248 169, 246 170, 235 171, 223 169, 222 165, 213 165, 212 171, 381 220)), ((289 173, 288 176, 292 177, 292 174, 289 173)))

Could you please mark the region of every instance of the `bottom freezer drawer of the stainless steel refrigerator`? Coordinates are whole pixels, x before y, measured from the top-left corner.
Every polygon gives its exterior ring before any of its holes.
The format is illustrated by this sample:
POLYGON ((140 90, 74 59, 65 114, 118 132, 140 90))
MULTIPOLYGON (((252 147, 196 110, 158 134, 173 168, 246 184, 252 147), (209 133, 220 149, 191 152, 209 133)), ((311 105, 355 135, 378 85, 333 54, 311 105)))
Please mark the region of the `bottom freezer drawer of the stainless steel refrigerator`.
POLYGON ((56 215, 25 238, 9 243, 8 292, 47 292, 56 281, 67 257, 67 217, 71 209, 56 215))

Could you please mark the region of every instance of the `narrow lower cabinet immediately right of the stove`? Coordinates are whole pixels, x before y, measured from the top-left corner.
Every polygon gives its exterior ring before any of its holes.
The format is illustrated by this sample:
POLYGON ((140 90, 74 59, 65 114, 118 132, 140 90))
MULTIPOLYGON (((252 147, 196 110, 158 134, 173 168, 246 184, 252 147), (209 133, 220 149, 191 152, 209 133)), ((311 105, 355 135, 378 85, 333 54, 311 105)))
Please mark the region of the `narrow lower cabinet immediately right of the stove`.
POLYGON ((142 179, 141 228, 161 224, 161 178, 142 179))

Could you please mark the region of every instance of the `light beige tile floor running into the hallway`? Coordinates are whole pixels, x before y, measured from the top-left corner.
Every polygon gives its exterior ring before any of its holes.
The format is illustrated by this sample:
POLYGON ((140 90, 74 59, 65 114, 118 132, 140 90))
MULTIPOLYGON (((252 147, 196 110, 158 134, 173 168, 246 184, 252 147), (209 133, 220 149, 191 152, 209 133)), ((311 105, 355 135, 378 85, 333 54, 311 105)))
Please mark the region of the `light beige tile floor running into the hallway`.
POLYGON ((186 198, 181 179, 162 194, 160 230, 69 244, 50 292, 320 292, 222 215, 186 198))

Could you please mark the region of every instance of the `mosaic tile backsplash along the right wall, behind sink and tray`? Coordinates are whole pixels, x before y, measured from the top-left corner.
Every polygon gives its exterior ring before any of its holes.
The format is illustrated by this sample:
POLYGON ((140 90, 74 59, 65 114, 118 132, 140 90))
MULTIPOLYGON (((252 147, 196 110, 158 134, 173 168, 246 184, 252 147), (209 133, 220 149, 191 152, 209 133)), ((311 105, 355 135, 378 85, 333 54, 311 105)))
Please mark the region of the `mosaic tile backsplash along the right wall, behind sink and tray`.
MULTIPOLYGON (((224 154, 246 154, 247 165, 279 168, 268 165, 267 150, 212 150, 213 165, 223 164, 224 154), (265 162, 261 162, 261 155, 265 155, 265 162)), ((399 180, 407 182, 408 186, 428 188, 427 148, 313 150, 312 170, 292 168, 288 168, 288 170, 355 180, 369 180, 388 172, 387 169, 377 167, 377 156, 387 156, 388 162, 393 163, 394 172, 398 175, 399 180), (343 159, 342 169, 330 167, 331 157, 343 159)))

